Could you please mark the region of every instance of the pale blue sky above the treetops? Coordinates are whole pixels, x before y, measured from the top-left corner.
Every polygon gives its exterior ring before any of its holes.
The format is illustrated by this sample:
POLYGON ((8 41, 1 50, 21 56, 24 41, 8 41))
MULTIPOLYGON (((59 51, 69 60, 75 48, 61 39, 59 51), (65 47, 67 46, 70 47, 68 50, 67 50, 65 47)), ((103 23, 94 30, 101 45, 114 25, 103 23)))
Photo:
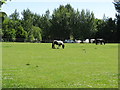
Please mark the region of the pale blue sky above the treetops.
POLYGON ((104 14, 106 17, 115 18, 117 12, 112 2, 113 0, 12 0, 2 6, 2 11, 10 15, 15 9, 21 13, 24 9, 29 8, 32 12, 42 15, 49 9, 52 14, 59 5, 71 4, 75 10, 93 11, 95 17, 99 19, 102 19, 104 14))

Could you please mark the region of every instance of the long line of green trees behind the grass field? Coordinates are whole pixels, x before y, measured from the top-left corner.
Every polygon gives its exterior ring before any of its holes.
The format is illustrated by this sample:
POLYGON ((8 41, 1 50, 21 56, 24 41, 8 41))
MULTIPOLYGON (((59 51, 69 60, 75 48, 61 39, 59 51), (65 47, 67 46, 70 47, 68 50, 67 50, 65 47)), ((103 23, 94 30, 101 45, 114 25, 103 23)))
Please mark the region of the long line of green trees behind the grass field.
MULTIPOLYGON (((4 13, 2 13, 4 14, 4 13)), ((79 11, 70 4, 60 5, 52 15, 33 13, 30 9, 14 11, 10 16, 2 16, 0 35, 3 41, 50 42, 57 40, 85 40, 103 38, 107 42, 120 41, 120 15, 116 18, 97 19, 90 10, 79 11)))

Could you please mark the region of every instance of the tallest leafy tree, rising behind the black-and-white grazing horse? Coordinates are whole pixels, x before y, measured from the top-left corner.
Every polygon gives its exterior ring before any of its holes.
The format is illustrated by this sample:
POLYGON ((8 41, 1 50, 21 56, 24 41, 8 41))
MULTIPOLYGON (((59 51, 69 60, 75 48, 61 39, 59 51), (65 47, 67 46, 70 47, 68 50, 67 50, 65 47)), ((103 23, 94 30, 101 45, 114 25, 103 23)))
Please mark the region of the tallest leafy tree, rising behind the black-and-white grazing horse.
POLYGON ((67 4, 66 6, 60 5, 55 9, 52 14, 52 29, 51 36, 53 39, 70 39, 72 35, 72 18, 74 9, 67 4))

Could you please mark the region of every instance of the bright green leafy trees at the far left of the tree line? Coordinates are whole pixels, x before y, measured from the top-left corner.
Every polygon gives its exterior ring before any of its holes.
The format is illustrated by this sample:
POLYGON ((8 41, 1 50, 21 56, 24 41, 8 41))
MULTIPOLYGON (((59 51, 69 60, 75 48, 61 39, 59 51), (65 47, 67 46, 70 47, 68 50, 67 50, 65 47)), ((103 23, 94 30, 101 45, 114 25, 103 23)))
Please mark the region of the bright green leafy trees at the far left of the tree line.
POLYGON ((3 39, 5 39, 5 41, 25 41, 27 32, 24 31, 23 27, 21 26, 21 20, 19 20, 18 17, 19 13, 17 13, 15 10, 15 12, 10 15, 10 18, 8 17, 4 20, 3 39))

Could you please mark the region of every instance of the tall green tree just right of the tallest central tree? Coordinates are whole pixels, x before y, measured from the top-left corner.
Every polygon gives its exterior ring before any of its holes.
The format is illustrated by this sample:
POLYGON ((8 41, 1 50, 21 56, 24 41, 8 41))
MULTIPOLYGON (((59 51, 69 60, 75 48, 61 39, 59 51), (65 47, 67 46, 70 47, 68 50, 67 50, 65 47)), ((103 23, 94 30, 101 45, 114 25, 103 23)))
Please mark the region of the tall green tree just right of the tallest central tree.
MULTIPOLYGON (((85 10, 83 9, 80 12, 80 15, 77 15, 78 20, 77 23, 77 33, 76 39, 81 39, 81 40, 85 40, 85 39, 91 39, 95 37, 95 33, 96 31, 96 24, 95 24, 95 17, 94 17, 94 13, 90 12, 89 10, 85 10)), ((76 31, 75 30, 75 31, 76 31)))

